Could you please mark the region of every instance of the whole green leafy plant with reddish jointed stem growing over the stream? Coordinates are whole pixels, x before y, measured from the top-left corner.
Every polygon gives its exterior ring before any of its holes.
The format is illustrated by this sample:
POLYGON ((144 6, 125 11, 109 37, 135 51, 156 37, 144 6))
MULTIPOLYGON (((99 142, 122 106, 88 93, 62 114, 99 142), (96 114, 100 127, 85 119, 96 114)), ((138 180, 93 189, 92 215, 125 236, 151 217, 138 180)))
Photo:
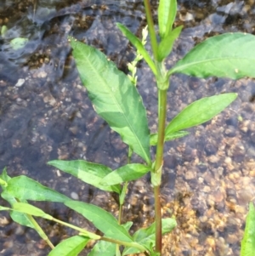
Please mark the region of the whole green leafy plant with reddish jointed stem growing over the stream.
MULTIPOLYGON (((49 189, 26 176, 10 178, 3 170, 0 185, 3 188, 1 196, 9 202, 11 218, 21 225, 29 226, 39 233, 48 245, 53 248, 49 255, 77 255, 90 241, 96 241, 94 248, 88 254, 105 256, 144 253, 145 255, 161 255, 161 237, 173 230, 175 219, 161 218, 161 174, 164 167, 164 144, 171 139, 177 139, 189 134, 186 129, 207 122, 223 111, 237 94, 219 94, 196 100, 176 117, 167 122, 167 89, 170 77, 183 73, 195 77, 255 77, 253 63, 255 60, 255 37, 244 33, 226 33, 210 37, 191 49, 182 60, 178 60, 169 70, 165 59, 172 51, 173 43, 179 37, 182 26, 173 27, 177 13, 176 0, 160 0, 158 6, 159 39, 153 23, 150 1, 144 0, 144 8, 148 23, 152 55, 144 48, 138 37, 127 27, 117 24, 122 33, 129 39, 150 70, 156 77, 158 89, 158 127, 156 134, 150 134, 143 100, 132 81, 116 65, 108 60, 98 49, 77 42, 70 37, 72 54, 77 63, 77 69, 88 97, 94 105, 94 110, 108 122, 112 130, 121 135, 123 143, 128 145, 127 164, 112 170, 111 168, 84 160, 62 161, 54 160, 49 165, 59 168, 65 173, 94 185, 103 191, 115 192, 119 196, 119 216, 116 219, 111 213, 93 204, 71 200, 57 191, 49 189), (167 122, 167 124, 166 124, 167 122), (150 155, 150 147, 156 145, 156 156, 150 155), (132 154, 141 157, 144 163, 130 162, 132 154), (133 236, 128 232, 132 222, 122 223, 122 206, 125 200, 128 182, 136 180, 150 172, 151 185, 155 199, 155 223, 147 228, 137 230, 133 236), (75 225, 64 223, 59 219, 44 213, 41 209, 28 204, 27 200, 62 202, 66 207, 81 213, 91 221, 104 235, 99 236, 75 225), (32 216, 54 220, 79 232, 56 247, 49 241, 32 216), (122 247, 120 247, 122 246, 122 247)), ((179 85, 181 86, 181 85, 179 85)))

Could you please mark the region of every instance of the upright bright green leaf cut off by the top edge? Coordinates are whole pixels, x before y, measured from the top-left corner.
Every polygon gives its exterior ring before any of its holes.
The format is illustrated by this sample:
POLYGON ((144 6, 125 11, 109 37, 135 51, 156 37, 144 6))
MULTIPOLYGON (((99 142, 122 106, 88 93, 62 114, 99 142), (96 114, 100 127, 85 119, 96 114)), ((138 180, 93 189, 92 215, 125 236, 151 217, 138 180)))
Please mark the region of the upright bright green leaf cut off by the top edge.
POLYGON ((177 12, 176 0, 160 0, 158 6, 158 26, 161 38, 165 38, 172 30, 177 12))

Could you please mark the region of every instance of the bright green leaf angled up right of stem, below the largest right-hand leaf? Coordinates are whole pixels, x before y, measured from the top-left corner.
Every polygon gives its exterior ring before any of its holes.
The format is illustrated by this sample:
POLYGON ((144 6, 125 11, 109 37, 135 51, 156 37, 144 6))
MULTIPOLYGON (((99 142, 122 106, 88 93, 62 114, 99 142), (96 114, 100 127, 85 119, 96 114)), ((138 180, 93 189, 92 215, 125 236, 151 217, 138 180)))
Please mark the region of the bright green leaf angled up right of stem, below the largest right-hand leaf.
POLYGON ((167 125, 166 136, 207 122, 218 115, 220 111, 223 111, 236 97, 237 94, 235 93, 219 94, 194 101, 178 113, 176 117, 173 117, 173 120, 167 125))

